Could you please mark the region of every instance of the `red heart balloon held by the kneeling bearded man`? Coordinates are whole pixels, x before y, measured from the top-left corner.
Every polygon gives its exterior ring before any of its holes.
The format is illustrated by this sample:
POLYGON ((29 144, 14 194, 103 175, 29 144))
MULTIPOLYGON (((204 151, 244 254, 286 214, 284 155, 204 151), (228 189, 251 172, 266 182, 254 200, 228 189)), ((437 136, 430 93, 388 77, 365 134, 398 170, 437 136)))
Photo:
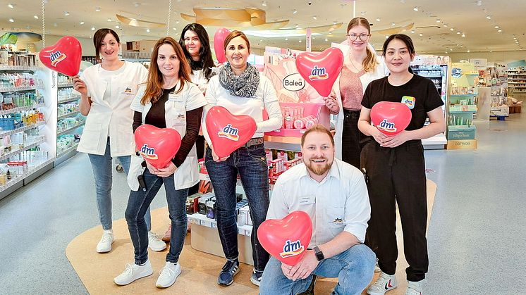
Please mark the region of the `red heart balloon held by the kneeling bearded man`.
POLYGON ((257 239, 271 256, 295 265, 305 255, 312 237, 312 221, 303 211, 294 211, 283 219, 269 219, 257 229, 257 239))

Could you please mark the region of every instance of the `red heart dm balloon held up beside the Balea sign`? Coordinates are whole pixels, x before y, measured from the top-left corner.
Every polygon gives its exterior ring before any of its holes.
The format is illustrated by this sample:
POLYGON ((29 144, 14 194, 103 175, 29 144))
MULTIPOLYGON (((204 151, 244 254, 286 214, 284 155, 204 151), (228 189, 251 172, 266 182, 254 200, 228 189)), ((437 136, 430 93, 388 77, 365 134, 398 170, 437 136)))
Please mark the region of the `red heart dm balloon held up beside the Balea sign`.
POLYGON ((335 47, 325 49, 321 54, 302 52, 296 58, 298 72, 321 96, 331 94, 342 67, 343 53, 335 47))

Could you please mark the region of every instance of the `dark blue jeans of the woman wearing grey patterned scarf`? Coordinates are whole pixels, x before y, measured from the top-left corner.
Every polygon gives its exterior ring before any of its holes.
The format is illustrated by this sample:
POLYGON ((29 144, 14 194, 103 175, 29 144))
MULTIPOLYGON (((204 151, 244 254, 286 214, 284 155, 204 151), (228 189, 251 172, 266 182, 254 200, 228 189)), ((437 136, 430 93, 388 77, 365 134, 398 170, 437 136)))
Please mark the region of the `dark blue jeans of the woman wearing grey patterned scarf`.
POLYGON ((267 218, 270 201, 269 170, 264 145, 240 147, 222 162, 215 162, 212 150, 208 148, 205 165, 216 195, 217 229, 226 258, 233 260, 239 256, 236 223, 236 182, 239 173, 253 223, 251 242, 254 268, 264 270, 269 261, 269 253, 257 240, 257 229, 267 218))

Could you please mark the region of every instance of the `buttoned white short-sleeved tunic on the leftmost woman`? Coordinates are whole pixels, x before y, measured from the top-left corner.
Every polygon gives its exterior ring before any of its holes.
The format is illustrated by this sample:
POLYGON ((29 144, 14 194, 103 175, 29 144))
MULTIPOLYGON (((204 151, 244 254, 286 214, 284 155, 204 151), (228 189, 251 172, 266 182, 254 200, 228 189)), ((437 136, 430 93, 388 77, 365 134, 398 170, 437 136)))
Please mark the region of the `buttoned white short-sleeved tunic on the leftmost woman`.
POLYGON ((99 76, 101 65, 92 65, 82 73, 80 78, 87 86, 92 105, 77 151, 104 155, 109 137, 112 157, 135 153, 130 103, 138 84, 146 82, 148 70, 140 63, 125 63, 123 72, 111 77, 111 103, 103 100, 107 83, 99 76))

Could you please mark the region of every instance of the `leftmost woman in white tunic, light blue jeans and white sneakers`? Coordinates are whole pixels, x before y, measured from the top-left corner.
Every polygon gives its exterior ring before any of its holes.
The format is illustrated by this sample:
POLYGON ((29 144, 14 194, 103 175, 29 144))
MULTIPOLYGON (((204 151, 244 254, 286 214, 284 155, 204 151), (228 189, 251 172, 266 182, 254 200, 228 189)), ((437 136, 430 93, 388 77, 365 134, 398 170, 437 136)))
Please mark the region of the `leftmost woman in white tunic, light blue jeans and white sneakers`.
MULTIPOLYGON (((137 85, 145 82, 148 71, 139 63, 121 61, 118 35, 111 29, 99 29, 93 35, 95 55, 102 62, 73 77, 73 88, 80 93, 80 113, 87 116, 77 150, 87 153, 93 168, 97 208, 102 225, 102 239, 97 252, 111 251, 114 241, 111 219, 112 157, 118 157, 128 172, 130 155, 135 153, 133 141, 133 111, 130 103, 137 93, 137 85)), ((150 229, 149 211, 147 224, 150 229)), ((161 251, 166 244, 155 234, 149 234, 151 249, 161 251)))

